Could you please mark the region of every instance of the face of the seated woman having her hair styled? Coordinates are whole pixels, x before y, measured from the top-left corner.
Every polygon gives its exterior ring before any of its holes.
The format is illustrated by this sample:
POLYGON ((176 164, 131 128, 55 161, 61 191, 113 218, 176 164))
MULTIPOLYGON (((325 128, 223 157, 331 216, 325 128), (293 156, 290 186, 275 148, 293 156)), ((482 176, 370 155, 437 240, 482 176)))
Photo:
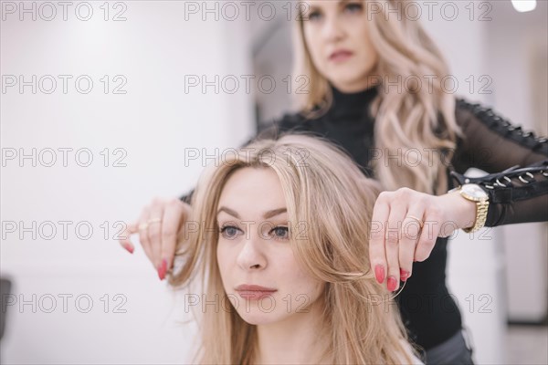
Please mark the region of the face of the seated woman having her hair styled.
POLYGON ((302 316, 321 295, 321 282, 293 255, 286 209, 269 168, 238 170, 221 193, 217 263, 228 298, 250 324, 302 316))

